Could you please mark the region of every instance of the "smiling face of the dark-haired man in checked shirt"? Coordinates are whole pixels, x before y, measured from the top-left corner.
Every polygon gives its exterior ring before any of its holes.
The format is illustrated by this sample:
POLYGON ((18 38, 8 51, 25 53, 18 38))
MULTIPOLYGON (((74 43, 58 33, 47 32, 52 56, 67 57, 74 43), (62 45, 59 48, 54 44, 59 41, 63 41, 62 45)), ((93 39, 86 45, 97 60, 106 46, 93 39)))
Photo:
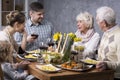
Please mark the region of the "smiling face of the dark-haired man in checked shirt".
POLYGON ((44 18, 44 11, 40 10, 38 12, 36 11, 30 11, 30 17, 33 23, 39 23, 43 20, 44 18))

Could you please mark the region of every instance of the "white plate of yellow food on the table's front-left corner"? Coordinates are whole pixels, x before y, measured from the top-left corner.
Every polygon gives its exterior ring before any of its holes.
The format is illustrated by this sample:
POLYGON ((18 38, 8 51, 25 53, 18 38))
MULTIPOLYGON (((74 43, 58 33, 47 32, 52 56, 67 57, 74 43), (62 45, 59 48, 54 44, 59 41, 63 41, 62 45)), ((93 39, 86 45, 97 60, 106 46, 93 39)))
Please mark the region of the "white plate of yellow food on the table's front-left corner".
POLYGON ((54 73, 58 72, 61 69, 53 66, 52 64, 43 64, 43 65, 36 65, 36 68, 40 69, 41 71, 48 72, 48 73, 54 73))

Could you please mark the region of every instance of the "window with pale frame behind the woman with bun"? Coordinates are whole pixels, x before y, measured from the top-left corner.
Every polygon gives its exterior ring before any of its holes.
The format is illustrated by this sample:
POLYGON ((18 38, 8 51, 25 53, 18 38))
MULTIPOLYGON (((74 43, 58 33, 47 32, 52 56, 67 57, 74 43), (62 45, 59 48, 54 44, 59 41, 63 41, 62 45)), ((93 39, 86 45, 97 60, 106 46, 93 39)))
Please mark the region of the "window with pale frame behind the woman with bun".
POLYGON ((6 15, 10 11, 19 10, 24 13, 27 13, 28 11, 27 10, 28 0, 0 0, 0 3, 1 3, 1 9, 0 9, 1 26, 6 25, 6 15))

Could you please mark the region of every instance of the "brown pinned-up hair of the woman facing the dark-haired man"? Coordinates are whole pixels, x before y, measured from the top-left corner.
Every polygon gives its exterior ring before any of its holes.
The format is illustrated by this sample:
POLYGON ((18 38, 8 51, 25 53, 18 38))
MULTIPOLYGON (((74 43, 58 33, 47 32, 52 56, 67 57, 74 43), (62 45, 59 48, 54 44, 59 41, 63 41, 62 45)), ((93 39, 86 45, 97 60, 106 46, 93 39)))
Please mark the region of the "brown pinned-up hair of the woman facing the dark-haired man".
POLYGON ((20 11, 12 11, 6 16, 6 19, 7 19, 7 24, 13 26, 15 22, 18 22, 20 24, 24 23, 25 15, 20 11))

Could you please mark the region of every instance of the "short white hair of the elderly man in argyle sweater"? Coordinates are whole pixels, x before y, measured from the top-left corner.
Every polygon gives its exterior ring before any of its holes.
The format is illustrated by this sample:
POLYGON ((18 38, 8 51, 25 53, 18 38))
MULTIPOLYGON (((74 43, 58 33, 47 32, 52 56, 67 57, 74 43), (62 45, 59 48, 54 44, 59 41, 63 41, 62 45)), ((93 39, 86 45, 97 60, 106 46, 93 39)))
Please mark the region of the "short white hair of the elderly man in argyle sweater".
POLYGON ((112 8, 104 6, 100 7, 96 11, 99 21, 105 20, 108 24, 113 24, 116 21, 116 15, 112 8))

